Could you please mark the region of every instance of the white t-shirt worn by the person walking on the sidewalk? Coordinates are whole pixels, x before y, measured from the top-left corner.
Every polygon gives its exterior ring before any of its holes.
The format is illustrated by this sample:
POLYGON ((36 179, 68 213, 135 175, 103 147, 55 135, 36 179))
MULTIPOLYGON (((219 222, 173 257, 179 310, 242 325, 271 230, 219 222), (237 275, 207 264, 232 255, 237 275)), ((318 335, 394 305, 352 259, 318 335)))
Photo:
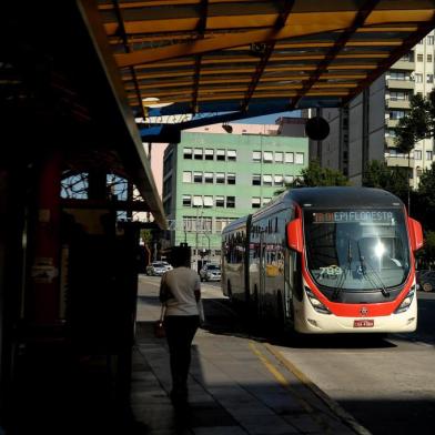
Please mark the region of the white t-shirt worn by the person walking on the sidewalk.
POLYGON ((200 276, 192 269, 175 267, 163 274, 161 292, 172 294, 166 301, 165 315, 199 315, 194 291, 201 291, 200 276))

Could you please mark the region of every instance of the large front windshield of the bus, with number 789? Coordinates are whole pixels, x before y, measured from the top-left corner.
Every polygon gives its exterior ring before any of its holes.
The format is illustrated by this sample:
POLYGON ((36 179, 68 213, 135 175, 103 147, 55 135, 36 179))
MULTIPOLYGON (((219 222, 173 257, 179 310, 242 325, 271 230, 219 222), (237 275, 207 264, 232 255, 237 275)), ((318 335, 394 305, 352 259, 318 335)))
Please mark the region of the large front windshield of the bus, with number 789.
POLYGON ((394 287, 409 272, 399 210, 305 210, 307 267, 320 286, 348 291, 394 287))

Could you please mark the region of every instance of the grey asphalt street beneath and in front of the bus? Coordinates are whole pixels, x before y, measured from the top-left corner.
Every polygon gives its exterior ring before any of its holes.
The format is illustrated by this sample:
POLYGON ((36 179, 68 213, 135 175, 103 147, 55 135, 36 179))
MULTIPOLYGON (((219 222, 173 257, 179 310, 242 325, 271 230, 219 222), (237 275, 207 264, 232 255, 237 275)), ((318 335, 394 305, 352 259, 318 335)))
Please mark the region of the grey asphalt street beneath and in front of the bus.
MULTIPOLYGON (((159 289, 159 277, 140 277, 159 289)), ((202 283, 205 326, 215 334, 252 338, 220 283, 202 283)), ((435 427, 435 293, 418 295, 418 328, 386 337, 264 336, 290 365, 373 434, 433 434, 435 427)), ((139 311, 140 311, 139 304, 139 311)), ((143 315, 143 314, 142 314, 143 315)), ((305 382, 307 382, 305 380, 305 382)))

